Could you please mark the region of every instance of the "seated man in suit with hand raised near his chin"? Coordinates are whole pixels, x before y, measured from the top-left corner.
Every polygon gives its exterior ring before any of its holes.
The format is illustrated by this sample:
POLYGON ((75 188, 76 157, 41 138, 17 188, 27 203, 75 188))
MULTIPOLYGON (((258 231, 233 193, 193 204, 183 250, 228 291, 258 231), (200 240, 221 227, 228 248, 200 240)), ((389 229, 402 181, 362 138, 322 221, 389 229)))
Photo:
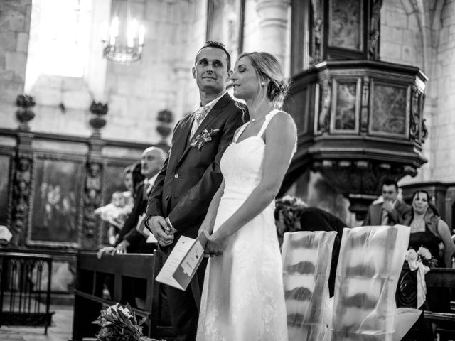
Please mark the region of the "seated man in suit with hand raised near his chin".
POLYGON ((382 183, 382 201, 371 204, 363 220, 363 226, 399 224, 402 218, 411 214, 411 207, 398 199, 398 185, 395 180, 386 179, 382 183))

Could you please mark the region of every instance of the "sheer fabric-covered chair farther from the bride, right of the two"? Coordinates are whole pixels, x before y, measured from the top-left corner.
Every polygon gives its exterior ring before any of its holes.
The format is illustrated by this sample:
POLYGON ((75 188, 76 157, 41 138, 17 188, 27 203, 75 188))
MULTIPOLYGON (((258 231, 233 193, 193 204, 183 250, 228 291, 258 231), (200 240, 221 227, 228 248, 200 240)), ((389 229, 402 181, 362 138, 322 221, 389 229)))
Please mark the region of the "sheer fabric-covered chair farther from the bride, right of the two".
POLYGON ((395 291, 409 237, 401 225, 344 229, 328 340, 395 340, 395 291))

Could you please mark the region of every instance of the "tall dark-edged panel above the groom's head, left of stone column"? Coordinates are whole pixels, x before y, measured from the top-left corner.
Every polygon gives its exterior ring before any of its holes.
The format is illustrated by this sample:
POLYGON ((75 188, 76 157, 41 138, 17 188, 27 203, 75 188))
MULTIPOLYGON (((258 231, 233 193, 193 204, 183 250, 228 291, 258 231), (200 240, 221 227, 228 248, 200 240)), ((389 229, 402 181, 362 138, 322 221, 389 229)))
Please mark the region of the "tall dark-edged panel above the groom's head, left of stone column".
POLYGON ((231 58, 231 70, 243 50, 245 0, 208 0, 207 40, 226 45, 231 58))

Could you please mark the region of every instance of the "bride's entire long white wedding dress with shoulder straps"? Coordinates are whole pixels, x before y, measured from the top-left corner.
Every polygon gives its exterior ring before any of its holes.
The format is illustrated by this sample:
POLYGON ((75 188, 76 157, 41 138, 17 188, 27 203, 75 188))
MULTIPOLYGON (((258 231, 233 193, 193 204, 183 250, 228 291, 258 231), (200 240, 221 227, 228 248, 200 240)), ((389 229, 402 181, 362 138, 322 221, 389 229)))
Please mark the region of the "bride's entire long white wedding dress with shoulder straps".
MULTIPOLYGON (((257 136, 237 143, 244 124, 220 161, 225 190, 214 231, 257 187, 262 175, 262 134, 278 110, 267 114, 257 136)), ((294 150, 295 151, 295 150, 294 150)), ((228 239, 205 272, 198 341, 287 341, 282 257, 274 223, 274 202, 228 239)))

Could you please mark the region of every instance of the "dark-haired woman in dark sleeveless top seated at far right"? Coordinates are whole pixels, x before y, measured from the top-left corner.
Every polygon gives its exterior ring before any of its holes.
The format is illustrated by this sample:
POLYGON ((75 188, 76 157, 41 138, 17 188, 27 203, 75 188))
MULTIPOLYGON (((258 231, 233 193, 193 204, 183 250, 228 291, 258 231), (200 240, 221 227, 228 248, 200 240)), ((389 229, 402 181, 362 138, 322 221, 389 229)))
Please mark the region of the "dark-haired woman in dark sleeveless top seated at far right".
POLYGON ((438 267, 451 268, 451 259, 454 252, 454 242, 451 239, 449 226, 438 216, 437 210, 429 203, 429 194, 418 190, 412 195, 412 215, 402 224, 411 227, 410 248, 415 251, 419 247, 426 247, 438 267), (444 244, 444 252, 439 255, 439 244, 444 244))

